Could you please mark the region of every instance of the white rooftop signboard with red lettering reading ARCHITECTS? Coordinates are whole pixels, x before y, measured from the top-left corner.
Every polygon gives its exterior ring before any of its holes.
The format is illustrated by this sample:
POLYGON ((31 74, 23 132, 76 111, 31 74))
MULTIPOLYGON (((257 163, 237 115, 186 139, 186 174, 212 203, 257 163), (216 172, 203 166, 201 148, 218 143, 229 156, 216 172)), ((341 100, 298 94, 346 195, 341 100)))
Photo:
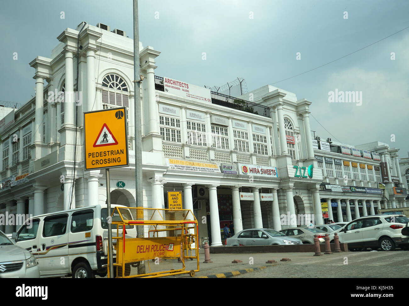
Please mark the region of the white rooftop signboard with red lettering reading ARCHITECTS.
POLYGON ((211 103, 210 89, 180 82, 166 76, 163 78, 163 86, 166 93, 175 94, 186 99, 211 103))

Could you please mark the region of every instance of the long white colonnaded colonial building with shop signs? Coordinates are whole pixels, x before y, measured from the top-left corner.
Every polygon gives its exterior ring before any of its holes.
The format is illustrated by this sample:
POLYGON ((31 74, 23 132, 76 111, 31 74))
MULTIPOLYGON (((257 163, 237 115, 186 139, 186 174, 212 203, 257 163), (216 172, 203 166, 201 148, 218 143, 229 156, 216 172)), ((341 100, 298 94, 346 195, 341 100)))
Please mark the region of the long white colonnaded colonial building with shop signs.
POLYGON ((304 216, 294 225, 323 223, 321 203, 335 205, 328 212, 335 221, 376 213, 380 205, 406 205, 404 196, 389 192, 402 182, 397 149, 312 139, 311 102, 291 92, 267 85, 230 97, 156 76, 160 52, 139 43, 144 80, 135 97, 133 41, 107 29, 85 23, 66 29, 51 58, 30 63, 36 96, 5 117, 12 122, 1 132, 2 214, 105 203, 105 171, 84 171, 83 112, 120 106, 128 110, 130 166, 110 170, 112 204, 135 206, 133 131, 141 124, 144 207, 167 207, 166 192, 182 191, 184 208, 199 220, 199 236, 213 246, 222 244, 220 230, 230 221, 236 232, 281 229, 290 226, 284 215, 304 216), (139 100, 142 121, 135 122, 139 100), (379 161, 373 153, 381 154, 379 161), (381 161, 387 175, 398 177, 383 180, 385 189, 378 185, 381 161))

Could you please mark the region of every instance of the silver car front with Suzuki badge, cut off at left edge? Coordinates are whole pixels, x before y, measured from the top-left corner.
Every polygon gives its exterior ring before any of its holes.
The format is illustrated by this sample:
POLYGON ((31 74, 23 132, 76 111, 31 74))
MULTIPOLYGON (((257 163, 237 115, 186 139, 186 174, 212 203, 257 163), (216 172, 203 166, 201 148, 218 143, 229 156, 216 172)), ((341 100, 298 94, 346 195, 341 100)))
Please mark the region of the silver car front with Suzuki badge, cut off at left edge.
POLYGON ((38 278, 40 270, 31 253, 14 244, 0 231, 0 278, 38 278))

